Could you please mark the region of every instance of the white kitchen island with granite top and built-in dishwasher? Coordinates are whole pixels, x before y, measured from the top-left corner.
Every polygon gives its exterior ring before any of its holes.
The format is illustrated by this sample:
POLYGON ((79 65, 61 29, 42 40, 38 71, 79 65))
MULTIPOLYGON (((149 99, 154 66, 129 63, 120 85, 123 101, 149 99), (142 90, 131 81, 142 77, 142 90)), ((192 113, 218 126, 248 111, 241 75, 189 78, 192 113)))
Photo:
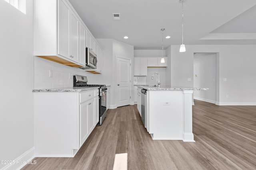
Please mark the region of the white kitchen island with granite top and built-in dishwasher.
POLYGON ((141 89, 147 90, 145 127, 152 139, 194 142, 192 94, 208 88, 138 86, 141 89))

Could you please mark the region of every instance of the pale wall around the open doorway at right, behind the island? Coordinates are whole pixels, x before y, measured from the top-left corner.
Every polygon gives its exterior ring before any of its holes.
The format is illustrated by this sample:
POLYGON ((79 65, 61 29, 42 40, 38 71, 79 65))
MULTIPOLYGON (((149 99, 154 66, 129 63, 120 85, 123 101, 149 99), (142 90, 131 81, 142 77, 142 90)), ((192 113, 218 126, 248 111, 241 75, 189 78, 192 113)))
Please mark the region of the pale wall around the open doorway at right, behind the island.
POLYGON ((193 86, 195 52, 218 53, 217 104, 256 105, 256 45, 186 45, 184 53, 179 52, 179 45, 171 47, 172 86, 193 86), (226 81, 223 81, 224 78, 226 81))

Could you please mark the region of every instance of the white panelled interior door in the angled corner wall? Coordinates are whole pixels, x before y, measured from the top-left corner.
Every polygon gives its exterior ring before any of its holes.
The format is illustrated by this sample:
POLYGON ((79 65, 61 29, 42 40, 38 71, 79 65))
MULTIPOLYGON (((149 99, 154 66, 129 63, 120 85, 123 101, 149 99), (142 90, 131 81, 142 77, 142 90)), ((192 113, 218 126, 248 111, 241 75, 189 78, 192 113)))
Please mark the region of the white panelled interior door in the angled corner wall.
POLYGON ((130 105, 131 100, 131 60, 116 57, 117 64, 117 107, 130 105))

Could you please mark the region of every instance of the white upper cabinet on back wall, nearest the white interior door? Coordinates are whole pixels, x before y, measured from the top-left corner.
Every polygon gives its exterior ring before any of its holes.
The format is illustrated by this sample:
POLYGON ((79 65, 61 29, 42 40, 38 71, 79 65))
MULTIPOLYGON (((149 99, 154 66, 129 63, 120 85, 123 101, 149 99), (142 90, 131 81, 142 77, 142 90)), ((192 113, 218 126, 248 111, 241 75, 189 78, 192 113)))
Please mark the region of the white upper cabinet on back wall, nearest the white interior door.
POLYGON ((147 76, 148 58, 134 57, 134 76, 147 76))

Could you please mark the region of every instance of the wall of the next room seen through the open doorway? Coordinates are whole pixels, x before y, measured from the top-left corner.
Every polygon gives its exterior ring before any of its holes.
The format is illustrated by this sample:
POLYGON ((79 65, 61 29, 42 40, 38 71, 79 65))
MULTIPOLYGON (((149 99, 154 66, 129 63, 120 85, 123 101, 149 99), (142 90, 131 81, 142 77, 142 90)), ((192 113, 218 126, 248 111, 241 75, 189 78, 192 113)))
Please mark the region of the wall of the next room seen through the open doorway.
POLYGON ((194 91, 194 99, 216 104, 217 53, 194 54, 194 87, 209 90, 194 91))

